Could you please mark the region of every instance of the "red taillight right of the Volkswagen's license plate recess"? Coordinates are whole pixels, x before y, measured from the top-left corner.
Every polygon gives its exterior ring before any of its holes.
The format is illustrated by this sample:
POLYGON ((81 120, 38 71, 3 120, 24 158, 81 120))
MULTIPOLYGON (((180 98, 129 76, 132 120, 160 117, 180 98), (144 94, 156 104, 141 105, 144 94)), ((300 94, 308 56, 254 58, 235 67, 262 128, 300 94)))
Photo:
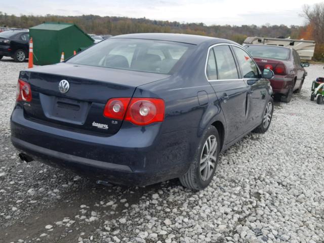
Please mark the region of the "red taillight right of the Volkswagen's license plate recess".
POLYGON ((165 104, 155 98, 113 98, 108 100, 103 115, 127 120, 139 126, 164 120, 165 104))

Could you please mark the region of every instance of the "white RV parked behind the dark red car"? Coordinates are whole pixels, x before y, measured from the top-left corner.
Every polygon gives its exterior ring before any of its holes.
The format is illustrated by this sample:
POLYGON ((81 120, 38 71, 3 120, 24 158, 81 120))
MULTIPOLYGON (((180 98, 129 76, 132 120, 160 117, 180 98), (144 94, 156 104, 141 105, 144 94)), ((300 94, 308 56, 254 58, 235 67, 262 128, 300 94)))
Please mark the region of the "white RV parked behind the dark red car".
POLYGON ((300 59, 303 60, 311 60, 315 50, 315 42, 305 41, 304 39, 247 37, 243 46, 251 44, 291 47, 297 51, 300 59))

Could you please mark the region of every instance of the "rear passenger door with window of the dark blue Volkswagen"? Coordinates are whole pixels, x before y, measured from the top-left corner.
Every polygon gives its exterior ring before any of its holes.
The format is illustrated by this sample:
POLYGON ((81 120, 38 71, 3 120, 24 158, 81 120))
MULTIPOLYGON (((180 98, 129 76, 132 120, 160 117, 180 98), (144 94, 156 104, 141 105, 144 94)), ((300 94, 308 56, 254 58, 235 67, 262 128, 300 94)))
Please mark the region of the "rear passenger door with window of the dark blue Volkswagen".
POLYGON ((221 104, 226 119, 225 143, 229 143, 242 135, 248 91, 244 79, 240 78, 229 45, 218 44, 210 48, 206 75, 221 104))

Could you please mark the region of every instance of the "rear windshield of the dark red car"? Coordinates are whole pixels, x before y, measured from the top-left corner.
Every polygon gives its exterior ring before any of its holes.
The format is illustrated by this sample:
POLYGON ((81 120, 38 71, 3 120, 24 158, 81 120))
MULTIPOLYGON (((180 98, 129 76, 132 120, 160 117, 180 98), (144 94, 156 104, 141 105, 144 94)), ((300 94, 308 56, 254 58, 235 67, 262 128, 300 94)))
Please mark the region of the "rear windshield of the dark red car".
POLYGON ((253 57, 288 60, 290 55, 289 49, 281 48, 281 47, 260 45, 260 46, 245 46, 245 48, 253 57))

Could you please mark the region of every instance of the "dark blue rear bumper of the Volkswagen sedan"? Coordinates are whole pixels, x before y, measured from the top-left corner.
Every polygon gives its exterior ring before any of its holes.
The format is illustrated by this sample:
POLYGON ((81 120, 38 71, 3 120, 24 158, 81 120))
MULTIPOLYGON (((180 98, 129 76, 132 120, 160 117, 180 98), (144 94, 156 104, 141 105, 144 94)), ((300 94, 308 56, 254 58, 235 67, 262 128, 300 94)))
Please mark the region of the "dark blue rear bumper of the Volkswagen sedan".
POLYGON ((110 137, 96 137, 38 124, 17 106, 11 117, 12 143, 33 159, 113 184, 149 185, 177 178, 189 168, 197 128, 159 133, 160 124, 123 124, 110 137))

